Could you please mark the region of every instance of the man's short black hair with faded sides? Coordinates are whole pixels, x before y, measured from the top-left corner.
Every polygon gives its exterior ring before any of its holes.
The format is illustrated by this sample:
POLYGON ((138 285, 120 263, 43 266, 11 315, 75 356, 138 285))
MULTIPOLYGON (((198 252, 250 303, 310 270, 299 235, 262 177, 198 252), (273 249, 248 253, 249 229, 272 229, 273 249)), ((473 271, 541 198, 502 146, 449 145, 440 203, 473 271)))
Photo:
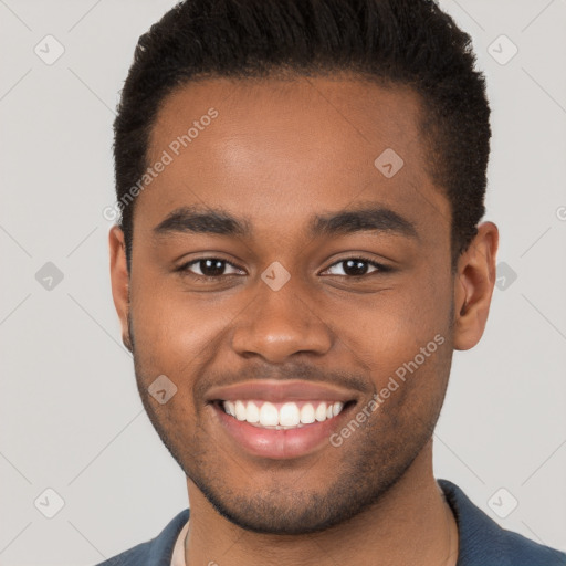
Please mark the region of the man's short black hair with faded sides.
MULTIPOLYGON (((450 201, 452 270, 485 213, 490 107, 470 35, 432 0, 186 0, 144 33, 114 122, 116 196, 130 269, 134 195, 156 115, 199 78, 339 71, 412 88, 428 172, 450 201)), ((377 156, 376 156, 377 157, 377 156)))

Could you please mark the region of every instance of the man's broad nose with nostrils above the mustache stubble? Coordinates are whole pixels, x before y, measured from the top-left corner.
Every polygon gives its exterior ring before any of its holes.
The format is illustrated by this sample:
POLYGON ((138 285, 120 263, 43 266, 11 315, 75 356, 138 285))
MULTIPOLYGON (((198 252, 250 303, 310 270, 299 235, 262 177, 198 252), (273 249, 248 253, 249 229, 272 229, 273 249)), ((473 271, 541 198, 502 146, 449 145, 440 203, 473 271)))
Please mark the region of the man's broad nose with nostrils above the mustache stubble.
POLYGON ((323 355, 332 348, 332 329, 292 281, 279 291, 259 283, 255 300, 238 317, 232 334, 237 354, 281 364, 300 353, 323 355))

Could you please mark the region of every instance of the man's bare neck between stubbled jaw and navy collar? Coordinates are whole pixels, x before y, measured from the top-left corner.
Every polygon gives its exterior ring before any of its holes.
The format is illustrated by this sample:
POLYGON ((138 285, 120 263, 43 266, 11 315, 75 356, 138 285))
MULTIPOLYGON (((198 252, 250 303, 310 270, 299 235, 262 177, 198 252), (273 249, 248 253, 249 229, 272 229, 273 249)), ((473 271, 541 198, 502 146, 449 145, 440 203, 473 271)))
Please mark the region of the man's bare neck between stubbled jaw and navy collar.
POLYGON ((432 440, 376 504, 321 533, 244 531, 219 515, 190 480, 187 485, 191 503, 187 566, 455 566, 458 560, 458 526, 432 474, 432 440))

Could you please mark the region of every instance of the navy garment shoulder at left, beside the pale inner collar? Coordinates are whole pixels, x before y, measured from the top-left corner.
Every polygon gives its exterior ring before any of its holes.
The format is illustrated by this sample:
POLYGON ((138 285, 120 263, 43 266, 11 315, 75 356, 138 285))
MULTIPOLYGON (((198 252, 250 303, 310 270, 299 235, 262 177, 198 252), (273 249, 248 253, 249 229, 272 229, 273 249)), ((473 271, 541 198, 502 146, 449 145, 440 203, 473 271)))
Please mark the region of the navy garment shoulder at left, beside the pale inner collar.
POLYGON ((186 509, 176 515, 156 537, 124 551, 96 566, 169 566, 177 536, 188 520, 189 510, 186 509))

